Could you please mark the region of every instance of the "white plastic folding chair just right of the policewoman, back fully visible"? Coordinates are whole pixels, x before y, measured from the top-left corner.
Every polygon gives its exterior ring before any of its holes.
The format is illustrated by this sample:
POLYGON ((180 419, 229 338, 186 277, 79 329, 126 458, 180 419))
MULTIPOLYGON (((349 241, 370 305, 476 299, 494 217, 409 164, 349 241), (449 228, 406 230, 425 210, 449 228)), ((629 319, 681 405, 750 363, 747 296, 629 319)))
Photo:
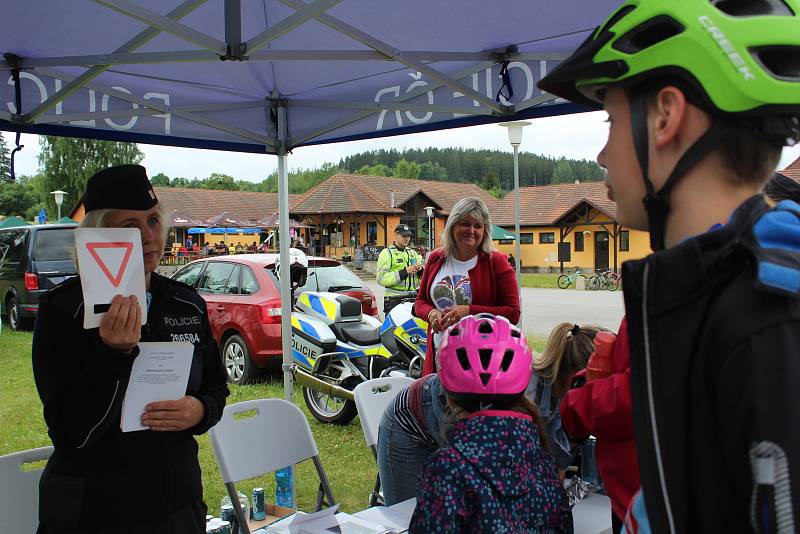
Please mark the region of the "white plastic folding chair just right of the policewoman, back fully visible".
POLYGON ((335 500, 319 459, 311 427, 300 408, 282 399, 258 399, 226 406, 209 431, 211 445, 239 525, 250 534, 236 495, 236 482, 270 473, 309 458, 320 480, 317 510, 335 500))

